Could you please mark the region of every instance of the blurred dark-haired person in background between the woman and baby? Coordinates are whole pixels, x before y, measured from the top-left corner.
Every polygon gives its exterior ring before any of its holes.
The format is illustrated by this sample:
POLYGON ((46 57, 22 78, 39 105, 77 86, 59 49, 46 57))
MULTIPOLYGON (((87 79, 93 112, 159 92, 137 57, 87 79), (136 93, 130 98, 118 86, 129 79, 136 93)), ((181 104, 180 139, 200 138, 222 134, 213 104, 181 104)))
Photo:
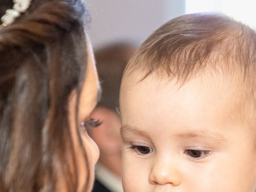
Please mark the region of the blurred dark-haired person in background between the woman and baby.
POLYGON ((100 149, 93 192, 122 192, 120 116, 116 111, 122 73, 136 47, 126 43, 105 46, 95 52, 102 85, 102 99, 91 114, 100 120, 89 134, 100 149))

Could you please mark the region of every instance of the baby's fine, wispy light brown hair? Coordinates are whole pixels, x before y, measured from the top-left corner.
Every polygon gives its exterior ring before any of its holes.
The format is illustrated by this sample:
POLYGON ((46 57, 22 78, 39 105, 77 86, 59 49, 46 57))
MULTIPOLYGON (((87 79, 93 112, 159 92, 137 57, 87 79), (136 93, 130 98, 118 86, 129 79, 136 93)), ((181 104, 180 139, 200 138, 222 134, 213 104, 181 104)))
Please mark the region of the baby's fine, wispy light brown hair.
POLYGON ((250 100, 250 104, 240 101, 246 110, 239 110, 239 114, 254 116, 255 64, 253 29, 222 14, 187 14, 170 20, 146 39, 130 59, 124 79, 129 82, 128 78, 132 78, 129 74, 140 72, 141 80, 154 74, 182 86, 202 74, 208 74, 207 78, 209 74, 222 74, 225 78, 238 79, 243 98, 250 100), (254 113, 248 115, 248 111, 254 113))

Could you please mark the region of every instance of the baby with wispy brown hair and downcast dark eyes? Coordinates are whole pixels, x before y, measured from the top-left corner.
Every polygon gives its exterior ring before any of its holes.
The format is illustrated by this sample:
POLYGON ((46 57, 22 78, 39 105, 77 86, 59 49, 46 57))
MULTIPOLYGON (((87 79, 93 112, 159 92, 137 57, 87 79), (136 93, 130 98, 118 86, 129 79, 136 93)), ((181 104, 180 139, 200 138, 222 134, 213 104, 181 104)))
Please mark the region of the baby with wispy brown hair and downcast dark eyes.
POLYGON ((124 192, 254 192, 256 32, 170 20, 126 67, 120 112, 124 192))

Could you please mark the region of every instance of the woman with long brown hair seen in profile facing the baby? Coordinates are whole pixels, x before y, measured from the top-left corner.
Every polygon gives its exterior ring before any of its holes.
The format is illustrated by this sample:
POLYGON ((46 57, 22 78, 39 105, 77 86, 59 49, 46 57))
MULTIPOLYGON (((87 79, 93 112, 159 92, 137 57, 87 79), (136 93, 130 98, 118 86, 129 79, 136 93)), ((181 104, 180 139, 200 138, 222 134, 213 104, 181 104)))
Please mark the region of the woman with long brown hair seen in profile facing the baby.
POLYGON ((99 85, 86 8, 1 0, 0 17, 1 191, 90 191, 98 148, 80 124, 97 125, 99 85))

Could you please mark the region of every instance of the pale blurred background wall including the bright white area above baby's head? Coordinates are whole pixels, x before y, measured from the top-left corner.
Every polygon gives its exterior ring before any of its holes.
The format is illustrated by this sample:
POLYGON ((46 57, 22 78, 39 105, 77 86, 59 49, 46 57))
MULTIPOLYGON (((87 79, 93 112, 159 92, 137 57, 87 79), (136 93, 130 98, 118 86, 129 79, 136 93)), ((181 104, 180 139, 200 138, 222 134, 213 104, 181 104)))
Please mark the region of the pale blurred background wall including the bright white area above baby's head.
POLYGON ((256 27, 256 0, 86 0, 94 49, 114 42, 141 44, 166 21, 194 12, 223 12, 256 27))

